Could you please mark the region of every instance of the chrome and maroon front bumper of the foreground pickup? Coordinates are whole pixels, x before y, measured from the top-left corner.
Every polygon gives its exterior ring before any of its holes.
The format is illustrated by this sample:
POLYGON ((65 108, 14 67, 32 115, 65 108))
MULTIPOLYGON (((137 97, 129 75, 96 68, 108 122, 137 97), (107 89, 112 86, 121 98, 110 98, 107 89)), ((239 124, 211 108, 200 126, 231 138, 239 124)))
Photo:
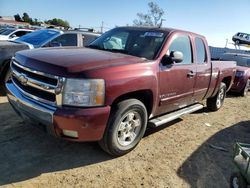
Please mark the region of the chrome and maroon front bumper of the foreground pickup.
POLYGON ((42 124, 49 134, 73 141, 102 139, 110 107, 55 108, 23 96, 13 83, 6 83, 7 97, 14 110, 26 121, 42 124), (67 137, 63 130, 76 131, 77 138, 67 137))

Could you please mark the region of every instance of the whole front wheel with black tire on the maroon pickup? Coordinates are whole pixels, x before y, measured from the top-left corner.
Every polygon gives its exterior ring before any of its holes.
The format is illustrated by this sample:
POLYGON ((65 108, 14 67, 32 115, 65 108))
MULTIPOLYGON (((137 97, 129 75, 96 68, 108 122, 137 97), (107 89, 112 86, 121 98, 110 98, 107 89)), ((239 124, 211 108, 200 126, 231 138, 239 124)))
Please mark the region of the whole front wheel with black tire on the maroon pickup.
POLYGON ((119 102, 111 111, 108 126, 99 145, 113 156, 133 150, 143 137, 147 126, 147 110, 137 99, 119 102))

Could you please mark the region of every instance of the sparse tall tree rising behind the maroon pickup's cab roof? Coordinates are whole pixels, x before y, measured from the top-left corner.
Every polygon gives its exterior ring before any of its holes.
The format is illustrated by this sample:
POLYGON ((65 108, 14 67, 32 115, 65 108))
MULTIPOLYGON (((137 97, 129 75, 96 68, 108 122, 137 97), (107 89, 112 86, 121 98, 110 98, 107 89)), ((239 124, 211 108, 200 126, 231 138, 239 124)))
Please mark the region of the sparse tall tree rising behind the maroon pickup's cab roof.
POLYGON ((164 15, 164 10, 160 8, 156 3, 149 2, 148 3, 148 13, 137 13, 137 19, 133 21, 136 26, 161 26, 162 25, 162 17, 164 15))

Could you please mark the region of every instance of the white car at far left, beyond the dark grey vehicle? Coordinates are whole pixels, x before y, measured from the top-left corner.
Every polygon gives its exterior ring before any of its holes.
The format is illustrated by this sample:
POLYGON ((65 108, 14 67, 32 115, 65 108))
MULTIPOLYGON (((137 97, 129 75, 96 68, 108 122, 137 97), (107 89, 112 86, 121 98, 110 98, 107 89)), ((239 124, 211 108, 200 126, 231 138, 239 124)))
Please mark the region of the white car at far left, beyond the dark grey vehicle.
POLYGON ((17 38, 31 32, 33 32, 33 30, 30 29, 15 29, 15 28, 5 29, 0 34, 0 40, 16 40, 17 38))

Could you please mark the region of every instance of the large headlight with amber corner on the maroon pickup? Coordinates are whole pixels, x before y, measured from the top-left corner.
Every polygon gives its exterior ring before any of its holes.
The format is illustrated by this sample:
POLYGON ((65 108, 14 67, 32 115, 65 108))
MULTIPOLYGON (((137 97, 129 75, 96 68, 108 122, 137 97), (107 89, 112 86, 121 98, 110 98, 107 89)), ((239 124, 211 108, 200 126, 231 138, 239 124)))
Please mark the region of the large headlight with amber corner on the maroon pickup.
POLYGON ((63 105, 104 105, 105 83, 102 79, 66 79, 63 89, 63 105))

